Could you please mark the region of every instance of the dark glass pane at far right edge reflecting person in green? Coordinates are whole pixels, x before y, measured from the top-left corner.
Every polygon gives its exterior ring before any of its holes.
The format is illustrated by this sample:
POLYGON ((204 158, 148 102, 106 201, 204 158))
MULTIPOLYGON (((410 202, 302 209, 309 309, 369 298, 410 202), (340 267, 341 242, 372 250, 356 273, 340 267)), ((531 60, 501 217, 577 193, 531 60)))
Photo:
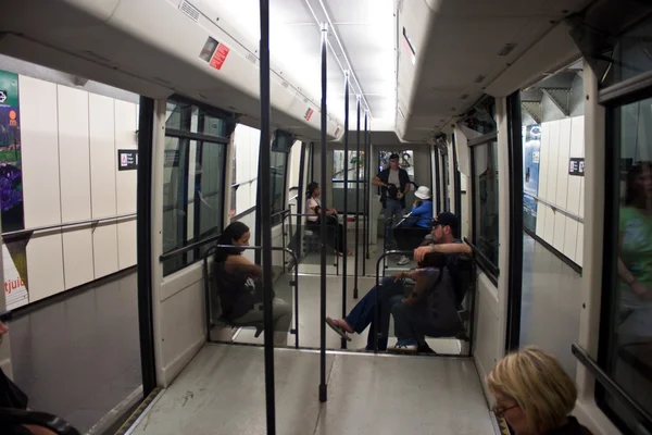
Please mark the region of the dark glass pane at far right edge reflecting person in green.
MULTIPOLYGON (((607 275, 603 327, 606 343, 601 363, 609 375, 648 413, 652 413, 652 99, 614 109, 615 156, 606 203, 613 223, 605 238, 616 246, 605 251, 607 275), (612 188, 616 187, 615 189, 612 188), (617 188, 619 187, 619 189, 617 188), (619 196, 617 195, 619 191, 619 196)), ((610 174, 607 174, 609 176, 610 174)), ((619 423, 636 432, 626 407, 599 391, 599 401, 619 423)), ((652 427, 648 427, 652 430, 652 427)))

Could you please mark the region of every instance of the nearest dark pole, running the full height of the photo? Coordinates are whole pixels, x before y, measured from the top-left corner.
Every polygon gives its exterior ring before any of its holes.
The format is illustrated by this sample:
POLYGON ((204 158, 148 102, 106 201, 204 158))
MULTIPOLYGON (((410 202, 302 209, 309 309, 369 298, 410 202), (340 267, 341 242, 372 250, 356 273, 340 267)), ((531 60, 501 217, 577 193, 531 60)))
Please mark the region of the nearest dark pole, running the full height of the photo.
MULTIPOLYGON (((261 8, 261 148, 259 158, 260 186, 271 186, 271 113, 269 113, 269 0, 260 0, 261 8)), ((259 191, 262 191, 259 188, 259 191)), ((265 405, 267 435, 276 434, 274 398, 274 313, 272 312, 272 198, 260 195, 263 265, 263 324, 265 334, 265 405)))

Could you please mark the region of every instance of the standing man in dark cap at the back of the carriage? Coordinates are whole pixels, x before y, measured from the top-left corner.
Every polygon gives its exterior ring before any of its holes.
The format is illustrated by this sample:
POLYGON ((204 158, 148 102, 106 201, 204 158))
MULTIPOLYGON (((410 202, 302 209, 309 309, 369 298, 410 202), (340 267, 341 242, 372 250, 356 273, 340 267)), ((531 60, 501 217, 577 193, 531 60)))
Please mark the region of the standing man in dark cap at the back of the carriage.
MULTIPOLYGON (((374 186, 380 187, 380 202, 383 203, 383 214, 385 220, 393 217, 393 224, 397 224, 403 217, 405 210, 405 195, 410 191, 410 176, 408 172, 399 167, 399 154, 393 153, 389 157, 389 167, 381 171, 372 181, 374 186)), ((385 232, 385 241, 389 249, 396 249, 396 240, 388 225, 385 232)), ((410 262, 406 257, 397 259, 399 265, 410 262)))

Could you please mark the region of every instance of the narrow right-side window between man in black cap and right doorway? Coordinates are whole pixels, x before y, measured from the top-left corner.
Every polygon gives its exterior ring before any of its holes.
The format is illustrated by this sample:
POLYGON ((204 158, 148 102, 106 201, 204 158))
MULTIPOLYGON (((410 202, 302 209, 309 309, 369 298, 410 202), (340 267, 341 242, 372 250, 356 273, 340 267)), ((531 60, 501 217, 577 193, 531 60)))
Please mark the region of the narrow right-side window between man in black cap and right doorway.
POLYGON ((489 265, 497 269, 498 144, 491 141, 472 147, 472 158, 475 201, 474 244, 485 254, 489 265))

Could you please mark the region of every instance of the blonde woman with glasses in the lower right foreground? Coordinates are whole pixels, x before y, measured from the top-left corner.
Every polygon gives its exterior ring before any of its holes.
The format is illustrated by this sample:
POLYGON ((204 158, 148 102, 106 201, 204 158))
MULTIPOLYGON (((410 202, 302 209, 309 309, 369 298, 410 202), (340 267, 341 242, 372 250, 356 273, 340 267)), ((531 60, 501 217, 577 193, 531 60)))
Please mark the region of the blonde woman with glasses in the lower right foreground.
POLYGON ((591 435, 568 415, 577 400, 575 384, 559 361, 536 347, 507 355, 487 375, 494 412, 516 435, 591 435))

